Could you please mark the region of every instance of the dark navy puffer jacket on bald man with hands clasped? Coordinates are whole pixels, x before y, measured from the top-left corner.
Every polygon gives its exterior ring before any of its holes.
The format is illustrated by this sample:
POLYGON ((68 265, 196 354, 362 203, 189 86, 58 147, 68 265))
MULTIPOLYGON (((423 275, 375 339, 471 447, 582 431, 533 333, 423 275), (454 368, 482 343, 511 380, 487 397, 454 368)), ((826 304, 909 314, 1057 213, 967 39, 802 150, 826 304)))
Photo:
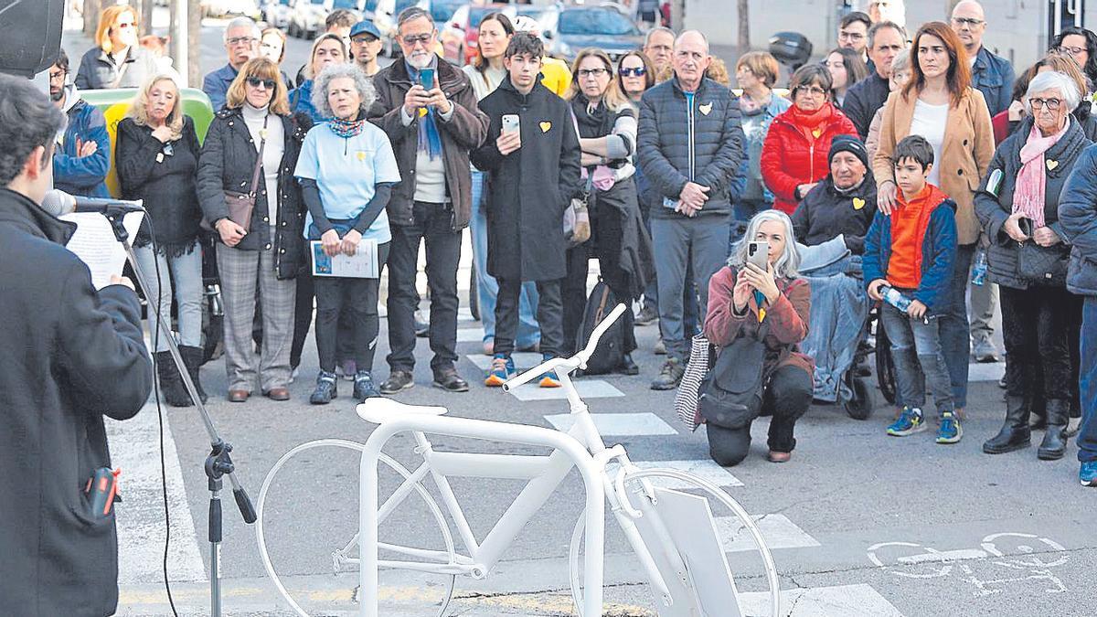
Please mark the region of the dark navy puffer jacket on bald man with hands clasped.
MULTIPOLYGON (((678 78, 644 92, 636 154, 654 191, 677 200, 692 178, 711 188, 699 215, 730 214, 728 184, 739 173, 745 156, 746 138, 739 116, 739 102, 732 91, 708 78, 701 81, 692 106, 687 104, 678 78)), ((653 204, 651 215, 686 216, 664 207, 661 202, 653 204)))

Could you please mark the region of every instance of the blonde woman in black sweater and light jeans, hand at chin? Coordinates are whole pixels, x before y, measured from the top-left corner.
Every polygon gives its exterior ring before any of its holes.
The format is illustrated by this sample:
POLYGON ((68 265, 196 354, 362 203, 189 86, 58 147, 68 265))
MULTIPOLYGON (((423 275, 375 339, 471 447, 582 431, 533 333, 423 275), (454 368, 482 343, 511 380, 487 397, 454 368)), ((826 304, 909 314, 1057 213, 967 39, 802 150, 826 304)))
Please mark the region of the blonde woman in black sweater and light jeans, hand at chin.
MULTIPOLYGON (((171 302, 179 306, 179 351, 203 396, 199 381, 202 349, 202 250, 197 246, 202 210, 194 182, 199 166, 194 121, 183 114, 179 85, 169 74, 152 76, 137 91, 126 117, 118 123, 114 168, 122 198, 144 200, 148 216, 134 239, 137 265, 149 289, 149 322, 171 323, 171 302), (157 276, 158 273, 158 276, 157 276)), ((167 403, 193 404, 168 351, 167 339, 154 333, 157 373, 167 403)))

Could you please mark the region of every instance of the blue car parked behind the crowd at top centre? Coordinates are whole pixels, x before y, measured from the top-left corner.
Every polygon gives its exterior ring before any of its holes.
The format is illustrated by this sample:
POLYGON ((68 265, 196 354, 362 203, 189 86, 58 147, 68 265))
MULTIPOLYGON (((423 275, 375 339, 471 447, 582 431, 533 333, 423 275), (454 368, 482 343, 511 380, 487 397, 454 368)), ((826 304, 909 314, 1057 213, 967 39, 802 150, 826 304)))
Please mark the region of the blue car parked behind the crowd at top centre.
POLYGON ((644 35, 635 22, 609 7, 565 7, 555 16, 556 23, 543 24, 548 53, 573 60, 584 47, 598 47, 615 63, 624 54, 644 44, 644 35))

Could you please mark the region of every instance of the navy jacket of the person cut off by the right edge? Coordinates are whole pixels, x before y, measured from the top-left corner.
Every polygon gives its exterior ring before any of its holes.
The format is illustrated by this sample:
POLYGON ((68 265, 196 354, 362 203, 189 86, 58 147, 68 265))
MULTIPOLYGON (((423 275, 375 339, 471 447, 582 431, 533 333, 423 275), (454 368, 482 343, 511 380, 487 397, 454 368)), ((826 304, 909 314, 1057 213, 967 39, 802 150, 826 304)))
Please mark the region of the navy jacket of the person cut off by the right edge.
POLYGON ((1059 197, 1059 223, 1073 245, 1066 289, 1097 295, 1097 147, 1075 161, 1059 197))

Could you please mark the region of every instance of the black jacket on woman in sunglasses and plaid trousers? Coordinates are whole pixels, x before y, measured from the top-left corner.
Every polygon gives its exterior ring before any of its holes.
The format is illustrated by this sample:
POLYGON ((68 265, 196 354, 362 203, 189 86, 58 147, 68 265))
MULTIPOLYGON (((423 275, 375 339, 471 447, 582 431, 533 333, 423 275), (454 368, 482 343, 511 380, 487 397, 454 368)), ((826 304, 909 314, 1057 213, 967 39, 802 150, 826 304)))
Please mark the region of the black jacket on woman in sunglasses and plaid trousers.
MULTIPOLYGON (((278 278, 292 279, 297 276, 305 225, 305 204, 293 171, 297 167, 301 144, 312 123, 299 114, 279 117, 285 135, 285 153, 278 173, 278 190, 282 193, 278 209, 278 233, 274 238, 270 237, 267 189, 263 183, 265 171, 260 169, 256 209, 251 213, 251 233, 244 236, 236 248, 265 250, 273 243, 278 278)), ((226 190, 246 192, 251 186, 258 158, 259 150, 244 123, 240 108, 225 108, 217 112, 206 132, 202 157, 199 159, 199 203, 211 224, 228 216, 224 197, 226 190)))

